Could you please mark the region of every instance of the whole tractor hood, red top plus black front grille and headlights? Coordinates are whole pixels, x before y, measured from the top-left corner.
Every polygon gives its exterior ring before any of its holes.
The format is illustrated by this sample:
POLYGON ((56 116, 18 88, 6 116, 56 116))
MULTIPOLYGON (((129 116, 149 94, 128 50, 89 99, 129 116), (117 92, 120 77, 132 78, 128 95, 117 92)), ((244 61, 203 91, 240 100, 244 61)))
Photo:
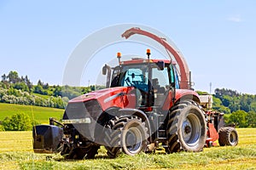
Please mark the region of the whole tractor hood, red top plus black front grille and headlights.
POLYGON ((135 107, 132 102, 135 103, 136 99, 131 99, 132 89, 129 87, 106 88, 71 99, 62 117, 62 122, 67 126, 72 124, 86 139, 95 141, 96 132, 102 132, 96 129, 102 128, 99 124, 101 122, 99 117, 103 112, 108 112, 109 108, 123 109, 130 105, 135 107))

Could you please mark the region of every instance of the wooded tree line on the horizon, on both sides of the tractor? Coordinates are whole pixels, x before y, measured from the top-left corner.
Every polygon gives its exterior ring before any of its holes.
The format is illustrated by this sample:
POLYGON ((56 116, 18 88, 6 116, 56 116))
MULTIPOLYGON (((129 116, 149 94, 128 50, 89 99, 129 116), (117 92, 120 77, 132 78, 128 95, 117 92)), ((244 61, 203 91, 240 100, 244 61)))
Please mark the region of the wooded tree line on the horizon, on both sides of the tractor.
MULTIPOLYGON (((33 85, 27 76, 19 77, 17 71, 9 71, 8 75, 3 74, 0 82, 0 102, 63 109, 69 99, 101 88, 104 87, 50 86, 41 80, 33 85)), ((235 123, 238 127, 256 127, 256 95, 241 94, 227 88, 216 88, 214 92, 212 109, 225 113, 226 123, 235 123)))

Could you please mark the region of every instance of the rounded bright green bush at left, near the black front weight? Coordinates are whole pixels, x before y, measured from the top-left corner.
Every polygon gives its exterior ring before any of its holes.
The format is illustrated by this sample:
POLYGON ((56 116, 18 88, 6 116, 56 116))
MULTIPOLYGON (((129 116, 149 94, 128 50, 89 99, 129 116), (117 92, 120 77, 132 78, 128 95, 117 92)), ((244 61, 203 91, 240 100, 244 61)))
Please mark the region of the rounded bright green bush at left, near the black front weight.
POLYGON ((32 130, 32 122, 25 113, 17 113, 13 116, 5 117, 3 128, 6 131, 29 131, 32 130))

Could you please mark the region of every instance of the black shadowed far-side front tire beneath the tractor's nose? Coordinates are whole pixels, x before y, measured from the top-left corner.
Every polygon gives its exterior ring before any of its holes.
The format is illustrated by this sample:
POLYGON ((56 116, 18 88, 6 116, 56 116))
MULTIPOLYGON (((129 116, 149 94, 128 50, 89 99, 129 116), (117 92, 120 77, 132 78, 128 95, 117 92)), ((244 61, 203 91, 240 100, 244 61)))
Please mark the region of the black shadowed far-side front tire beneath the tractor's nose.
POLYGON ((75 148, 70 150, 66 145, 66 147, 64 146, 64 150, 61 151, 61 155, 64 156, 65 159, 93 159, 98 153, 97 150, 99 148, 100 146, 91 144, 86 148, 75 148))

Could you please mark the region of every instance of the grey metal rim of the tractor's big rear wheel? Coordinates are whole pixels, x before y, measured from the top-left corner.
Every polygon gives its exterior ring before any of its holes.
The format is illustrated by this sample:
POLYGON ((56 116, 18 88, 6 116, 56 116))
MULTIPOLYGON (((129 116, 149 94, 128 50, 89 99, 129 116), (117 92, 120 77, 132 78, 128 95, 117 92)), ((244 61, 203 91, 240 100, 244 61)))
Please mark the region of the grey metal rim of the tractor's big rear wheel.
POLYGON ((183 140, 189 146, 195 146, 201 136, 201 123, 198 116, 189 113, 182 125, 183 140))

